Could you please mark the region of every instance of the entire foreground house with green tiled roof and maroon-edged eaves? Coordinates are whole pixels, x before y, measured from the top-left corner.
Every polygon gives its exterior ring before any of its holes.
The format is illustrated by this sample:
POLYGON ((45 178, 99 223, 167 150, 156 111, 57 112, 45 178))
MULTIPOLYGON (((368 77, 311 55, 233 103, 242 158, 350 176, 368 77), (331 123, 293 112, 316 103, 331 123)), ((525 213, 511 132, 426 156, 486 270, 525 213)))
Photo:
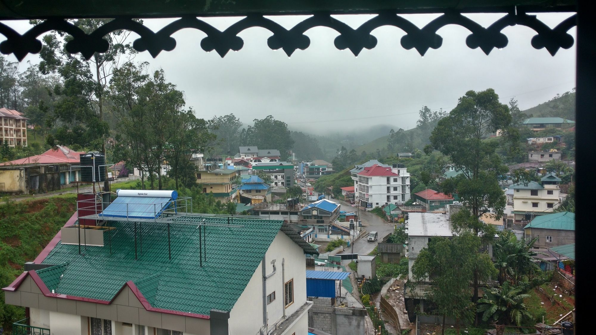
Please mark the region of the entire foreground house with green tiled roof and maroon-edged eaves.
MULTIPOLYGON (((6 303, 27 308, 28 324, 19 330, 306 335, 312 302, 306 299, 305 254, 318 252, 282 221, 233 218, 235 225, 227 225, 229 218, 205 215, 184 215, 168 225, 122 220, 109 222, 109 246, 85 246, 83 254, 58 232, 3 289, 6 303), (204 221, 209 225, 201 226, 204 221)), ((75 222, 73 215, 67 226, 75 222)))

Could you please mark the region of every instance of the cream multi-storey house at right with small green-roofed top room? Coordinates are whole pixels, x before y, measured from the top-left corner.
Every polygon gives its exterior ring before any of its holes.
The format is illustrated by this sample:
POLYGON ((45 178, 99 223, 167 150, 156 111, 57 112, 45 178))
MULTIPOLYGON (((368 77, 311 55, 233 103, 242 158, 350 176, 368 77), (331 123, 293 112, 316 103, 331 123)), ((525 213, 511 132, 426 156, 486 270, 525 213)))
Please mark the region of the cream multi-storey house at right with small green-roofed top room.
POLYGON ((515 222, 529 222, 537 215, 548 214, 560 203, 561 179, 554 173, 541 178, 542 185, 535 181, 518 182, 509 188, 513 192, 513 214, 515 222))

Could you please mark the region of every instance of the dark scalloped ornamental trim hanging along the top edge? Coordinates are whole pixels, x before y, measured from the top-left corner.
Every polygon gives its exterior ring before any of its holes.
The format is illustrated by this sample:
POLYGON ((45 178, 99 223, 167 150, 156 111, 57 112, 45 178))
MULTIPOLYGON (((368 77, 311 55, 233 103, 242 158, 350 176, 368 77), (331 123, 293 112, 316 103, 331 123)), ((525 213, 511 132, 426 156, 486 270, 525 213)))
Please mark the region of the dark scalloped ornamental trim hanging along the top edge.
POLYGON ((69 21, 51 19, 33 26, 23 35, 15 32, 6 24, 0 23, 0 33, 7 38, 6 41, 0 43, 0 52, 14 54, 19 61, 23 60, 27 54, 36 54, 41 51, 42 43, 38 39, 39 36, 52 30, 60 30, 73 36, 72 41, 66 45, 67 51, 72 54, 80 52, 83 57, 89 59, 95 52, 101 53, 107 50, 108 43, 103 39, 105 35, 124 29, 141 36, 133 43, 136 50, 148 51, 153 57, 157 57, 160 52, 172 51, 176 47, 176 40, 172 38, 173 33, 181 29, 192 28, 206 33, 207 36, 201 40, 201 48, 204 51, 215 50, 221 57, 224 57, 230 50, 238 51, 243 47, 244 41, 238 37, 238 33, 250 27, 263 27, 273 33, 267 41, 269 48, 283 49, 290 56, 296 49, 304 50, 311 44, 311 40, 305 35, 307 30, 313 27, 329 27, 340 34, 334 41, 336 48, 350 49, 357 56, 362 49, 372 49, 377 45, 377 38, 371 35, 374 29, 381 26, 394 26, 406 33, 401 39, 403 48, 415 48, 420 55, 424 55, 429 48, 437 49, 442 45, 443 38, 437 35, 437 30, 448 24, 457 24, 471 32, 466 38, 466 44, 472 49, 482 49, 487 55, 493 48, 500 49, 507 46, 507 36, 501 30, 507 26, 515 25, 535 30, 537 35, 532 38, 532 46, 536 49, 545 48, 551 55, 555 55, 558 49, 569 49, 573 46, 573 36, 567 32, 576 26, 576 17, 577 15, 572 15, 551 29, 538 20, 535 15, 509 13, 485 28, 461 13, 453 11, 440 15, 420 29, 396 13, 382 12, 357 29, 353 29, 337 18, 331 17, 328 13, 315 13, 287 30, 263 15, 254 14, 232 24, 223 32, 200 18, 182 17, 163 27, 157 33, 132 18, 115 18, 89 35, 69 21))

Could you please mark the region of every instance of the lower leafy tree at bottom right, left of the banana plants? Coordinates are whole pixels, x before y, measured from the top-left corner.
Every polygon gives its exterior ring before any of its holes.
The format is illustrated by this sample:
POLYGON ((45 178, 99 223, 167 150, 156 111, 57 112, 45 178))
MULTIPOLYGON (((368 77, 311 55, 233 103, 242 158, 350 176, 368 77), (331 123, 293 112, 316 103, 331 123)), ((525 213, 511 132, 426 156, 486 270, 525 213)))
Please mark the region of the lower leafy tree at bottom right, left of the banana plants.
POLYGON ((417 282, 430 281, 427 298, 436 306, 436 312, 443 315, 442 334, 445 334, 445 317, 457 322, 468 323, 474 319, 476 306, 470 301, 470 281, 474 274, 481 280, 488 280, 495 267, 488 253, 478 253, 480 240, 465 233, 448 238, 436 237, 422 249, 412 265, 412 278, 417 282))

